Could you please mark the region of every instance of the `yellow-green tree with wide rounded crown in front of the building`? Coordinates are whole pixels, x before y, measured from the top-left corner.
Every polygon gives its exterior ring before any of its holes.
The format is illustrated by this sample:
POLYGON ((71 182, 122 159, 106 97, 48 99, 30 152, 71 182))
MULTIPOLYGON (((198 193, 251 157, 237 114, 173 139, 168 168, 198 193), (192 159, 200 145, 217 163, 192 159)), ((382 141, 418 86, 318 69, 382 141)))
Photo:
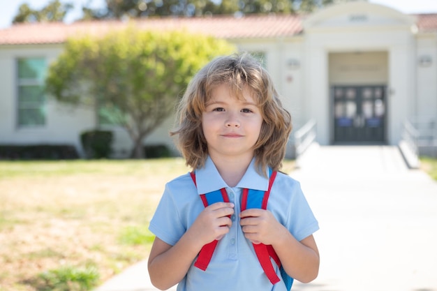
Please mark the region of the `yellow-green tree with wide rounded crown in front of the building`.
POLYGON ((73 38, 50 66, 46 87, 61 102, 105 108, 142 158, 142 142, 167 119, 191 77, 235 47, 182 31, 128 28, 102 38, 73 38))

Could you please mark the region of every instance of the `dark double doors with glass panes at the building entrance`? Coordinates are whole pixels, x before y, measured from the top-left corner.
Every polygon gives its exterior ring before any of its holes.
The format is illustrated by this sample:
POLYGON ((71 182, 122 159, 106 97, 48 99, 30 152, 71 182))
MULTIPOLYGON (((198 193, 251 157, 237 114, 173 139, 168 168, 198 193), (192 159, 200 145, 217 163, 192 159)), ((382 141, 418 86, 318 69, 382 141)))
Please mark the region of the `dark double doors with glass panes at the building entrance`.
POLYGON ((334 142, 385 142, 385 86, 333 86, 334 142))

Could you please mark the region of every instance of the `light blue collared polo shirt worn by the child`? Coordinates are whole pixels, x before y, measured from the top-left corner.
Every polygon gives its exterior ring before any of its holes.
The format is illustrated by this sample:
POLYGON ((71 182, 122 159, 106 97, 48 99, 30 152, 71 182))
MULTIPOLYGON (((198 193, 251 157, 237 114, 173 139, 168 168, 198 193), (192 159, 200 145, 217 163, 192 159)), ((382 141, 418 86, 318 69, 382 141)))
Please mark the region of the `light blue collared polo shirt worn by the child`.
MULTIPOLYGON (((253 251, 251 241, 244 237, 239 225, 241 196, 243 188, 267 191, 269 179, 255 171, 255 161, 251 162, 244 177, 237 186, 229 187, 221 178, 211 158, 205 167, 195 171, 196 189, 189 173, 170 181, 158 204, 149 230, 167 244, 175 245, 190 227, 200 211, 205 209, 199 195, 225 188, 230 202, 235 204, 235 215, 228 234, 218 241, 211 262, 202 271, 191 264, 188 273, 177 286, 183 291, 286 291, 282 283, 272 285, 265 275, 253 251)), ((318 230, 318 222, 302 193, 299 182, 286 174, 278 173, 269 195, 267 209, 288 228, 298 240, 308 237, 318 230)), ((272 260, 276 274, 281 278, 279 267, 272 260)))

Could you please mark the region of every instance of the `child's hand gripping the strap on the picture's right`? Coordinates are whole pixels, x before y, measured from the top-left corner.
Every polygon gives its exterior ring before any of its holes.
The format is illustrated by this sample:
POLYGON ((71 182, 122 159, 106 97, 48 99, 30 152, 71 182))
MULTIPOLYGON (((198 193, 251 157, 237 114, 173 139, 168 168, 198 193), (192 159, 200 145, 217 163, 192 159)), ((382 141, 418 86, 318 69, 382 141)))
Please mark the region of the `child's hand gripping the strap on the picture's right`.
POLYGON ((246 209, 239 214, 239 217, 244 237, 253 244, 273 244, 286 230, 281 223, 276 221, 272 212, 265 209, 246 209))

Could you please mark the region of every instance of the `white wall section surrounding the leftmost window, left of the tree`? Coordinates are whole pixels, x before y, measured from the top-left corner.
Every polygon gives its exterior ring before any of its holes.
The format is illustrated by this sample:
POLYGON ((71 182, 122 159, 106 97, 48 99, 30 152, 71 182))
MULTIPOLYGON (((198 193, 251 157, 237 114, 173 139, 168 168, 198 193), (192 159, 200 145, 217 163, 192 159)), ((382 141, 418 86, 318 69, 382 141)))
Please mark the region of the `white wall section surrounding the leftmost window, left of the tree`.
POLYGON ((94 124, 91 110, 60 105, 47 98, 45 126, 17 126, 16 59, 43 57, 48 62, 61 52, 59 45, 9 46, 0 50, 0 142, 1 144, 73 144, 80 146, 79 134, 94 124))

